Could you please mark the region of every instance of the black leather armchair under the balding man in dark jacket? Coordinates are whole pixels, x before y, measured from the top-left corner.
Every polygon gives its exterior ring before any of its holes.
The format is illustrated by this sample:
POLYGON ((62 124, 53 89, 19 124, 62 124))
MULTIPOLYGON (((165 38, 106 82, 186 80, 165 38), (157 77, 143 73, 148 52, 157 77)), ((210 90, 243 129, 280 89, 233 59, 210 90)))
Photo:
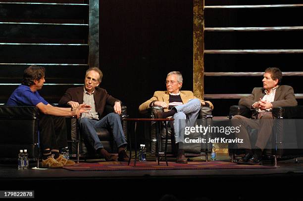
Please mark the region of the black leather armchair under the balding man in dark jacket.
MULTIPOLYGON (((125 139, 127 139, 127 122, 122 121, 122 118, 126 118, 127 117, 127 113, 126 113, 126 106, 122 106, 121 107, 121 123, 122 123, 122 127, 123 127, 123 131, 125 134, 125 139)), ((111 105, 106 105, 105 109, 104 109, 104 116, 112 113, 113 111, 113 107, 111 105)), ((68 131, 68 133, 70 133, 70 136, 68 136, 68 139, 71 139, 69 141, 73 141, 73 143, 70 144, 71 146, 71 153, 72 156, 76 156, 77 154, 77 149, 79 146, 79 156, 83 157, 84 159, 87 158, 97 158, 98 156, 95 153, 95 150, 93 149, 92 145, 89 144, 88 140, 86 139, 86 136, 83 135, 79 129, 79 126, 77 125, 77 121, 76 119, 70 119, 70 118, 66 118, 66 123, 67 123, 67 127, 68 129, 70 129, 68 131), (77 130, 78 128, 78 130, 77 130), (78 139, 79 139, 79 145, 77 143, 77 135, 79 135, 78 139)), ((106 129, 106 128, 101 128, 101 129, 97 129, 97 133, 98 133, 98 137, 102 143, 102 145, 104 146, 104 148, 110 152, 110 153, 117 153, 118 149, 117 149, 117 145, 115 144, 114 140, 113 140, 113 135, 112 133, 106 129)))

